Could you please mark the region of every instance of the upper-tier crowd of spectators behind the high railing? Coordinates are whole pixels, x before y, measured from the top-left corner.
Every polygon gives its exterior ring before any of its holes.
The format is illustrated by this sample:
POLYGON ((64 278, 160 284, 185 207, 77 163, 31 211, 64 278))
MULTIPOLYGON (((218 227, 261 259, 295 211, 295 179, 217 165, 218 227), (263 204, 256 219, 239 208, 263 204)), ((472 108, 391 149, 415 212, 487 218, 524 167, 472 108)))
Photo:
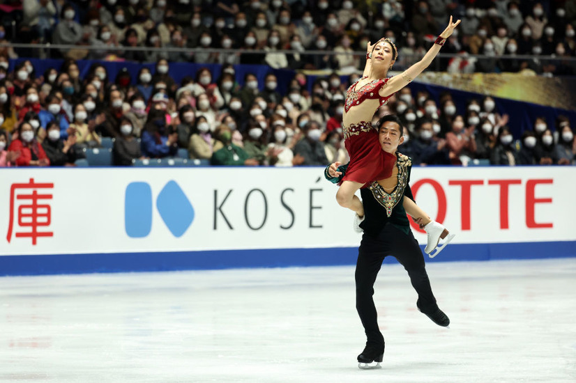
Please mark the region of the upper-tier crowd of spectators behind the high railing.
MULTIPOLYGON (((462 19, 462 25, 442 52, 457 56, 439 60, 439 70, 576 73, 575 61, 567 59, 576 52, 576 3, 571 0, 3 2, 0 42, 75 46, 52 49, 52 58, 121 57, 147 62, 165 58, 172 62, 266 64, 294 70, 362 70, 363 56, 350 53, 364 52, 368 41, 386 36, 400 47, 400 68, 423 55, 446 26, 447 15, 453 15, 462 19), (10 9, 13 12, 8 12, 10 9), (86 49, 88 46, 98 49, 86 49), (128 47, 142 50, 125 50, 128 47), (203 50, 208 48, 239 51, 203 50), (310 55, 307 51, 336 54, 310 55), (483 56, 471 56, 477 54, 483 56), (522 55, 533 57, 514 58, 522 55)), ((43 54, 42 49, 4 50, 11 58, 43 54)))

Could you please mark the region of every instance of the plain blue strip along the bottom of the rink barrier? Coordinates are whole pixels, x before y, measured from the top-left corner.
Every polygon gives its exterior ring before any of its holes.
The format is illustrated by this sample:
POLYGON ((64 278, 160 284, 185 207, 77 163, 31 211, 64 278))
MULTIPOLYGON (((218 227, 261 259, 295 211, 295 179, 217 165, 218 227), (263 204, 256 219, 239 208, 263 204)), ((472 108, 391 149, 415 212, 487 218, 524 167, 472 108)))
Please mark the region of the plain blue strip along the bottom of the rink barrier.
MULTIPOLYGON (((424 245, 420 245, 424 251, 424 245)), ((427 263, 575 257, 576 241, 449 244, 427 263)), ((356 265, 358 248, 252 249, 1 256, 3 276, 356 265)), ((384 263, 397 263, 388 256, 384 263)))

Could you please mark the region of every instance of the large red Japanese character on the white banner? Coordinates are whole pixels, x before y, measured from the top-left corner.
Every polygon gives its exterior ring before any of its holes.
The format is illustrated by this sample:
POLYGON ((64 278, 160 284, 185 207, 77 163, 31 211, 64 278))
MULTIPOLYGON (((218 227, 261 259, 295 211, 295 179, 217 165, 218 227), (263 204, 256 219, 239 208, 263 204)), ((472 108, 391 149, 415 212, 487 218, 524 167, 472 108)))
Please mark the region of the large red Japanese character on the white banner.
POLYGON ((29 237, 36 245, 38 237, 53 237, 52 231, 45 230, 52 221, 49 201, 54 189, 53 183, 15 183, 10 186, 10 223, 6 240, 10 243, 12 234, 17 238, 29 237))

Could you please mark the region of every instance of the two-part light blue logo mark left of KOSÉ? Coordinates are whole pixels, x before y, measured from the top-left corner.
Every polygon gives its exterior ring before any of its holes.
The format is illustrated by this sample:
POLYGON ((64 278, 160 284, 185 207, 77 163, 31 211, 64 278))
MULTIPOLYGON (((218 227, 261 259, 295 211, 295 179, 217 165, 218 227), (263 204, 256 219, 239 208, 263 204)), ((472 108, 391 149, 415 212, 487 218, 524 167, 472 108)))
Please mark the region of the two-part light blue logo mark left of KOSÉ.
MULTIPOLYGON (((152 189, 146 182, 130 182, 124 201, 126 234, 142 238, 152 228, 152 189)), ((156 198, 162 221, 174 237, 181 237, 194 221, 194 208, 175 181, 169 181, 156 198)))

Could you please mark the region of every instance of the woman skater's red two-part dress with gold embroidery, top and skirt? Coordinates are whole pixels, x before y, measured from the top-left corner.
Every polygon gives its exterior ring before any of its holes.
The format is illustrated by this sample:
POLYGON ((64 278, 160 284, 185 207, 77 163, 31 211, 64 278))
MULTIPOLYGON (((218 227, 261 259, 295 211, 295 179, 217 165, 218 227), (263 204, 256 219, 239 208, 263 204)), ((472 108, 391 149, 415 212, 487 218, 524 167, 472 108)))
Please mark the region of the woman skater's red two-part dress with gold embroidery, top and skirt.
MULTIPOLYGON (((363 77, 362 79, 364 79, 363 77)), ((360 81, 361 79, 358 79, 360 81)), ((380 89, 386 85, 388 79, 370 81, 356 90, 356 81, 348 88, 344 110, 361 104, 364 100, 379 100, 380 105, 385 105, 392 95, 380 96, 380 89)), ((350 156, 350 164, 342 181, 354 181, 363 184, 363 188, 375 180, 383 180, 392 175, 392 169, 396 162, 396 156, 382 150, 378 139, 377 130, 372 127, 372 116, 366 116, 368 121, 361 121, 348 126, 342 125, 344 132, 344 146, 350 156)))

